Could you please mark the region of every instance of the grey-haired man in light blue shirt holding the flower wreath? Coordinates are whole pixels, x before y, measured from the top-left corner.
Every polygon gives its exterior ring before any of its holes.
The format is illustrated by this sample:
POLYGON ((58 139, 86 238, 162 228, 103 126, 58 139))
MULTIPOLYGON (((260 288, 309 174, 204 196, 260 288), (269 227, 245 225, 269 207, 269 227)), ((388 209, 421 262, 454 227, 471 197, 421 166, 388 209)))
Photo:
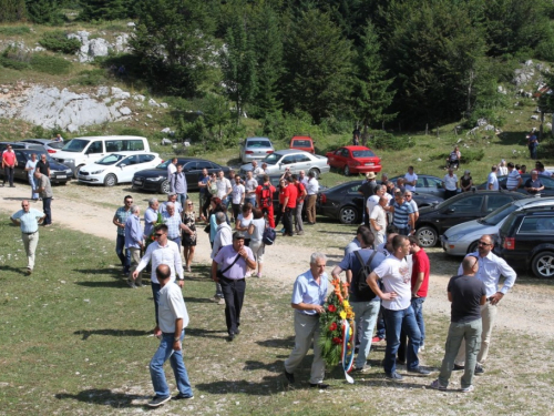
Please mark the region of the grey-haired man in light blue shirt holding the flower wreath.
POLYGON ((285 377, 295 384, 295 369, 300 365, 308 349, 314 345, 310 387, 325 389, 325 362, 321 357, 319 336, 319 314, 325 312, 327 298, 327 257, 322 253, 314 253, 310 257, 309 271, 296 277, 290 306, 295 310, 295 348, 285 361, 285 377))

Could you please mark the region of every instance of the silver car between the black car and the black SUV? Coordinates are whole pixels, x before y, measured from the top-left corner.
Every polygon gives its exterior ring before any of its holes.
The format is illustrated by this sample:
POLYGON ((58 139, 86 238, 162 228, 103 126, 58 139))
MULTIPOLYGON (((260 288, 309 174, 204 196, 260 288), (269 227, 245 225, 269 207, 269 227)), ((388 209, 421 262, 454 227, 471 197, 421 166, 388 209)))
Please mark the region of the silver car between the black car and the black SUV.
POLYGON ((442 248, 450 255, 464 256, 478 250, 478 241, 481 236, 496 235, 506 216, 514 211, 530 207, 544 206, 552 209, 554 197, 527 197, 505 204, 483 219, 468 221, 448 229, 441 235, 442 248))

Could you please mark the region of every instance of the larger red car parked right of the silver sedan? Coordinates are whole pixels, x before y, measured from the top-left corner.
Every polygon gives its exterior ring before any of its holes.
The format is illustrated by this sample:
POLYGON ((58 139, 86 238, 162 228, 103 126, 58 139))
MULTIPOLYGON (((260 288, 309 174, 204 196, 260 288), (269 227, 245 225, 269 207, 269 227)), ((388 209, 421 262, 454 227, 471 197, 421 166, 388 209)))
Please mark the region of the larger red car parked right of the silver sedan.
POLYGON ((343 146, 332 152, 327 152, 327 164, 331 168, 345 171, 345 175, 351 173, 368 173, 381 171, 381 158, 365 146, 343 146))

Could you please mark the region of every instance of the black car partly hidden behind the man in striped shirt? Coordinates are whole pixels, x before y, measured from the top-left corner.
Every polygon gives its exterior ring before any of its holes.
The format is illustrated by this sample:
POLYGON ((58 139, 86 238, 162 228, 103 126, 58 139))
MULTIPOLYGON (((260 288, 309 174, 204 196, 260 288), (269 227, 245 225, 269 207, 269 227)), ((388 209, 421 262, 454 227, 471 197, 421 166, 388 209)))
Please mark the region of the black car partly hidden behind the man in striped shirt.
MULTIPOLYGON (((346 182, 318 194, 317 213, 339 220, 342 224, 359 224, 363 213, 363 195, 358 193, 362 181, 346 182)), ((441 203, 442 197, 413 193, 418 207, 441 203)))

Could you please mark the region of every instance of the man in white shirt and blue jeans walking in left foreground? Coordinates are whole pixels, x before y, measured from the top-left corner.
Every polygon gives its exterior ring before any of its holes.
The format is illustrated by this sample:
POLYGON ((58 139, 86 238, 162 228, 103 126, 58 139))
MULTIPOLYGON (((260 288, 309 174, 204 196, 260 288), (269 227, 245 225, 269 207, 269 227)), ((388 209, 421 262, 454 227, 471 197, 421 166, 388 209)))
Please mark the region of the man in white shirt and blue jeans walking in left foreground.
POLYGON ((154 398, 150 407, 158 407, 171 400, 171 390, 164 373, 164 363, 170 359, 177 383, 178 395, 174 399, 193 398, 193 389, 183 362, 183 338, 188 325, 188 314, 183 294, 177 285, 171 282, 172 271, 166 264, 156 267, 160 282, 158 322, 162 331, 160 346, 150 362, 150 374, 154 386, 154 398))

